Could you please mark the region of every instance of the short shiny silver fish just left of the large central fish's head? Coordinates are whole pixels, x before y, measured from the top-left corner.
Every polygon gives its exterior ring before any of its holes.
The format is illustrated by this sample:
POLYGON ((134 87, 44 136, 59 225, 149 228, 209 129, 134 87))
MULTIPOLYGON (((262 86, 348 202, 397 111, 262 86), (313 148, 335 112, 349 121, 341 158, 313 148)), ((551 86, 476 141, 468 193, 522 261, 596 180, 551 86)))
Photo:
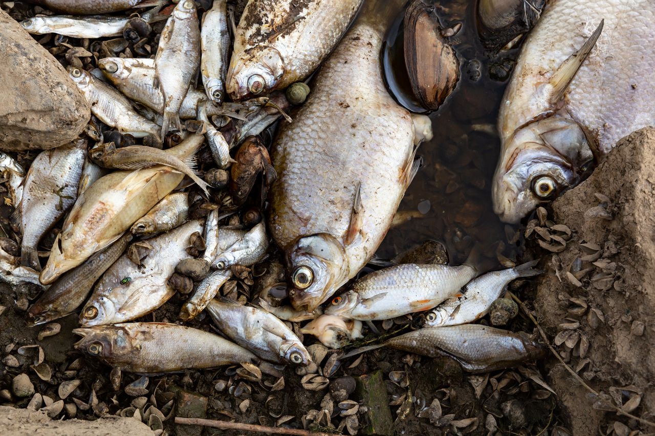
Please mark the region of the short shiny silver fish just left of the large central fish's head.
POLYGON ((219 253, 212 262, 212 267, 224 270, 233 265, 251 266, 261 261, 268 249, 269 237, 266 234, 266 226, 261 222, 223 253, 219 253))

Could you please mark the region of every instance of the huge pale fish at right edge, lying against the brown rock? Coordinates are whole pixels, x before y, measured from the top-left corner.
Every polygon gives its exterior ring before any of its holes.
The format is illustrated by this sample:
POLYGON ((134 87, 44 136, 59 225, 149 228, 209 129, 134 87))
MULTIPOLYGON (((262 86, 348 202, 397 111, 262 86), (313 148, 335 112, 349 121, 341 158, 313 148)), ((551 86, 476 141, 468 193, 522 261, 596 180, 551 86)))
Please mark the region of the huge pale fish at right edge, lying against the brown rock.
POLYGON ((521 49, 498 115, 493 201, 507 223, 579 183, 618 139, 655 124, 655 2, 588 6, 548 5, 521 49))

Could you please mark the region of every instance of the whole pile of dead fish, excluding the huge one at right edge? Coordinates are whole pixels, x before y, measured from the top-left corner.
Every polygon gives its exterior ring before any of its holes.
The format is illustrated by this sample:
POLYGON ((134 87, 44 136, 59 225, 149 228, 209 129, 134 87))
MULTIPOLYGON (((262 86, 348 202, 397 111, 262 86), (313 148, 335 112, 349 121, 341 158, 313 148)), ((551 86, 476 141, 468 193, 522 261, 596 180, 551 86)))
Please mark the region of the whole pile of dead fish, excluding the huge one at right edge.
POLYGON ((380 17, 404 1, 250 0, 238 26, 225 0, 202 20, 191 0, 39 3, 70 15, 23 21, 35 35, 124 35, 136 51, 151 24, 166 24, 156 54, 101 57, 90 71, 79 59, 67 65, 93 114, 83 137, 43 151, 27 173, 1 156, 22 234, 20 257, 2 247, 3 280, 44 288, 29 325, 79 311, 78 350, 145 374, 261 360, 308 365, 285 321, 311 319, 303 333, 341 348, 362 336, 362 321, 416 312, 426 313, 423 328, 356 352, 446 355, 472 372, 542 355, 528 335, 473 323, 509 282, 539 274, 536 261, 483 274, 472 253, 459 266, 391 264, 351 282, 419 169, 416 147, 432 137, 430 119, 398 105, 382 77, 389 23, 380 17), (129 17, 83 16, 153 5, 129 17), (315 70, 310 93, 302 81, 315 70), (257 136, 279 118, 271 158, 257 136), (265 295, 221 297, 240 268, 275 246, 286 257, 291 307, 265 295), (180 321, 206 311, 224 337, 134 322, 176 293, 185 297, 180 321))

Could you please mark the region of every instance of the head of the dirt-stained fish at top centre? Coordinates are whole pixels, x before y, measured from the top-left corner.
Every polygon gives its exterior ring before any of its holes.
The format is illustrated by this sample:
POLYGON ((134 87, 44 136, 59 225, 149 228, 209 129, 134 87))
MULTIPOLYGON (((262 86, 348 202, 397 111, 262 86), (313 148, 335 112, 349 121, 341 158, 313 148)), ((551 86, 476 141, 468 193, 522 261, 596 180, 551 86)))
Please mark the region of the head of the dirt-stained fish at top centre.
POLYGON ((227 93, 234 101, 247 100, 275 89, 284 74, 284 59, 278 50, 266 47, 247 59, 234 57, 227 72, 227 93))

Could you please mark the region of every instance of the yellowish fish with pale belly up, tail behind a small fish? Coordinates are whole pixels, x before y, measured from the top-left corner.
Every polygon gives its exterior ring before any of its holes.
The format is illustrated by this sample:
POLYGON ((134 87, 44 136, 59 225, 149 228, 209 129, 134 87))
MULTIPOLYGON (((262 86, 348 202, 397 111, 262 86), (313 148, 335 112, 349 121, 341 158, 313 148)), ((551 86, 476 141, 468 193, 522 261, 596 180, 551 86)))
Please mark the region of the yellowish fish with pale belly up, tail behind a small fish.
MULTIPOLYGON (((197 153, 202 137, 189 136, 168 149, 180 159, 197 153)), ((66 217, 50 258, 41 272, 41 283, 54 282, 67 270, 117 240, 134 222, 153 208, 182 181, 184 175, 169 166, 117 171, 98 179, 66 217)))

